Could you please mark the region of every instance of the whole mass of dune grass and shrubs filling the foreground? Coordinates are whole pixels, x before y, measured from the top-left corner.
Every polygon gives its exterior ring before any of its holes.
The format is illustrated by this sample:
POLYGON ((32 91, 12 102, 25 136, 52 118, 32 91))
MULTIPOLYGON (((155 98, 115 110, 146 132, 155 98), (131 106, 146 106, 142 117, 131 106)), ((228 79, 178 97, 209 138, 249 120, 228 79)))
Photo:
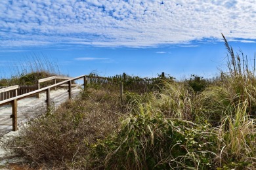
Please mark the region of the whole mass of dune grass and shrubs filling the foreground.
POLYGON ((122 104, 118 87, 87 86, 7 146, 45 169, 255 169, 255 70, 224 41, 219 82, 163 80, 122 104))

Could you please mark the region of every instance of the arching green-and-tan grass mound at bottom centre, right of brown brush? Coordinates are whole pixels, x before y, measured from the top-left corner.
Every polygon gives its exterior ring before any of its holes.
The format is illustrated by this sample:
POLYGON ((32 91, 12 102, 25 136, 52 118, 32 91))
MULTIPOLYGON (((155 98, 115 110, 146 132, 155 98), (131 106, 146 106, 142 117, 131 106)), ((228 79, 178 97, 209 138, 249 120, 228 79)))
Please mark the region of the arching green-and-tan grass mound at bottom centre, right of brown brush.
POLYGON ((106 169, 207 169, 215 156, 207 126, 166 118, 152 105, 137 105, 119 133, 94 145, 106 169), (207 142, 205 142, 207 141, 207 142), (209 148, 207 148, 209 146, 209 148))

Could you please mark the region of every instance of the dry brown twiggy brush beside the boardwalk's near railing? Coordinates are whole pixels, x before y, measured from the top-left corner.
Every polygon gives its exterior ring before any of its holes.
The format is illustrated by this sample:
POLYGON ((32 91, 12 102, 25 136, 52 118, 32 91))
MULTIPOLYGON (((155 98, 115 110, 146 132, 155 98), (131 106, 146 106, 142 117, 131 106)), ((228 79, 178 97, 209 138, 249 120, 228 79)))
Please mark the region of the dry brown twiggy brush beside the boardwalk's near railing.
POLYGON ((32 167, 51 164, 54 168, 90 164, 91 144, 118 129, 120 107, 115 94, 89 89, 82 99, 67 101, 58 109, 30 122, 9 147, 32 162, 32 167))

